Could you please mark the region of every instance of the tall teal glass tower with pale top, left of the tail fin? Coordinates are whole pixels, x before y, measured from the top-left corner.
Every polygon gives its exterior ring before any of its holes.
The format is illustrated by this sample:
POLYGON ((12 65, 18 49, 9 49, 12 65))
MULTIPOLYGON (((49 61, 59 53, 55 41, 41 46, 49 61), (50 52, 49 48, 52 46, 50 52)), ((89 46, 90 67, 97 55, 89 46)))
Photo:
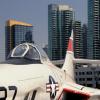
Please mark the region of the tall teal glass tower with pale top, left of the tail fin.
POLYGON ((48 6, 48 54, 51 60, 65 58, 72 20, 73 9, 68 5, 48 6))

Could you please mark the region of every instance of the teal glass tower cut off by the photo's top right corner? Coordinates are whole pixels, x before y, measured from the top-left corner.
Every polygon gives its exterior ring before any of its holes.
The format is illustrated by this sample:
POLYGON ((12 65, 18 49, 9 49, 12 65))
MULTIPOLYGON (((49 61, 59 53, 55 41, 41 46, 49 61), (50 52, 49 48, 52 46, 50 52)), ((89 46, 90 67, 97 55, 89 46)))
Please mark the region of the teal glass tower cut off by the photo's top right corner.
POLYGON ((88 0, 88 58, 100 59, 100 0, 88 0))

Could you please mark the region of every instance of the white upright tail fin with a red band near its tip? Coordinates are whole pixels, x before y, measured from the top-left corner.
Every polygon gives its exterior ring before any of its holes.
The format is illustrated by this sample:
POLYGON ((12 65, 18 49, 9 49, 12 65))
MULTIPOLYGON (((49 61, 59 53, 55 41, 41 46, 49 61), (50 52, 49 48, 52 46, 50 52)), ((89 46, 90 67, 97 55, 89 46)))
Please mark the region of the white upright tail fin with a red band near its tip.
POLYGON ((65 62, 62 67, 62 70, 65 71, 67 77, 69 76, 72 81, 74 81, 73 55, 74 53, 73 53, 73 30, 72 30, 71 37, 69 38, 65 62))

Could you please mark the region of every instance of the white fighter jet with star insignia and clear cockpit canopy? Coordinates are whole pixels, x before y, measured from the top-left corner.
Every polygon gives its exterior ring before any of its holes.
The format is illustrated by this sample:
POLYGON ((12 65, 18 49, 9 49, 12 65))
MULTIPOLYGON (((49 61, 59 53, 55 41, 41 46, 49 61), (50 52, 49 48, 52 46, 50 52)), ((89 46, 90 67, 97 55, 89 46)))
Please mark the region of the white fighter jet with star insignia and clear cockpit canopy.
POLYGON ((0 64, 0 100, 100 100, 99 89, 75 82, 73 35, 62 68, 33 43, 19 44, 8 58, 0 64))

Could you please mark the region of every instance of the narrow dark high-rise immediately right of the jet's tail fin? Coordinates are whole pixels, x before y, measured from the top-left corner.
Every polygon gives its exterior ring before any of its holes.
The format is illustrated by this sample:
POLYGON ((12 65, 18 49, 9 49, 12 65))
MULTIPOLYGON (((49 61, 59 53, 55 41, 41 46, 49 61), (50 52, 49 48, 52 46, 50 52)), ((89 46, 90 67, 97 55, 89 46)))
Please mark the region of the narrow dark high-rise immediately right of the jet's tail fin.
POLYGON ((75 58, 83 58, 83 41, 81 33, 81 22, 74 21, 74 56, 75 58))

